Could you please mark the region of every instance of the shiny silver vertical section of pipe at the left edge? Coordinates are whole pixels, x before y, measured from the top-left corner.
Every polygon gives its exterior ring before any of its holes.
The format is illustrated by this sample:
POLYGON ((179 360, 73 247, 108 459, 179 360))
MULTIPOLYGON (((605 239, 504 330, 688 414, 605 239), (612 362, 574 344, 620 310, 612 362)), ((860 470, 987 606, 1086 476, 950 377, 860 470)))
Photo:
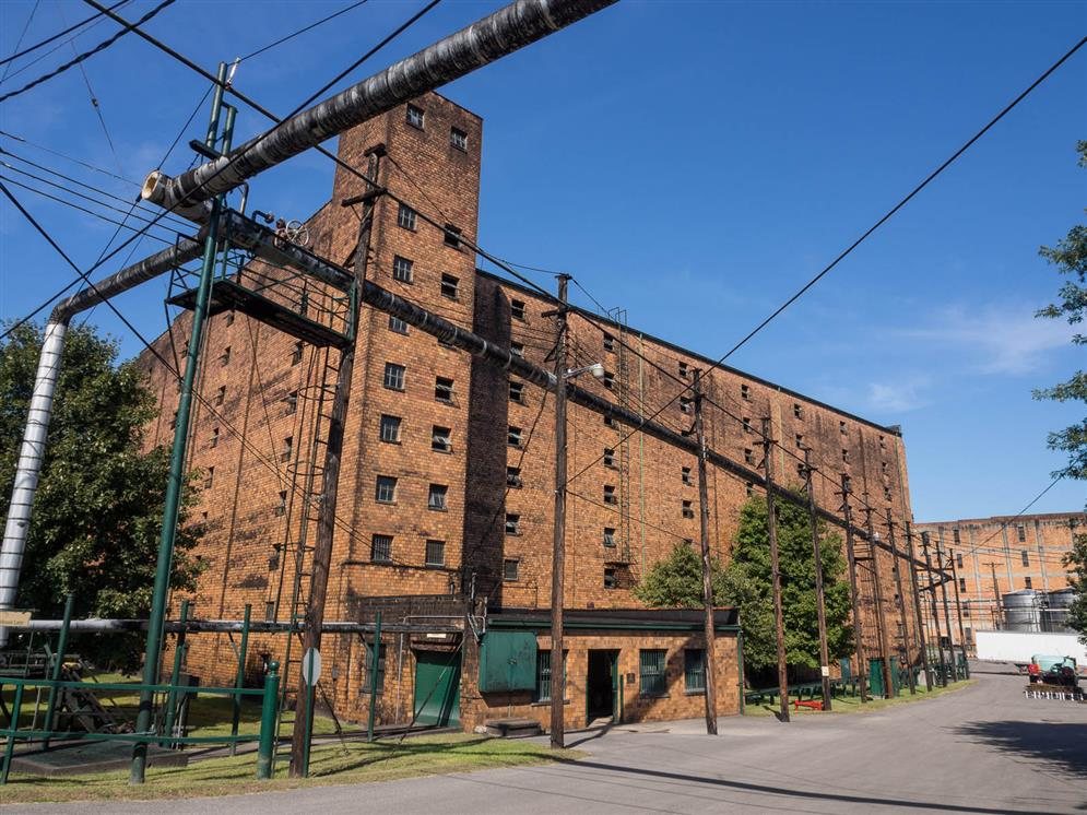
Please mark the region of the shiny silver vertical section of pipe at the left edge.
MULTIPOLYGON (((38 369, 34 375, 34 392, 26 416, 26 429, 23 432, 23 445, 15 465, 15 484, 11 491, 8 522, 4 524, 3 543, 0 544, 0 611, 15 607, 19 574, 23 567, 23 552, 26 550, 26 532, 31 525, 31 509, 45 459, 46 436, 52 415, 52 394, 57 389, 67 333, 67 317, 50 320, 45 329, 45 342, 38 357, 38 369)), ((5 645, 8 629, 0 626, 0 648, 5 645)))

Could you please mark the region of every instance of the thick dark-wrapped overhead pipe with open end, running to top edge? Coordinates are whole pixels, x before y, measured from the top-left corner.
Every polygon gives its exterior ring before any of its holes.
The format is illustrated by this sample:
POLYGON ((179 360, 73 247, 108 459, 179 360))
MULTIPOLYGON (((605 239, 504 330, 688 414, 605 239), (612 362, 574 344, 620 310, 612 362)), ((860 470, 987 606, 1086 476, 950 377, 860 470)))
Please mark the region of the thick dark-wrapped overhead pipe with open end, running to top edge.
POLYGON ((143 197, 203 222, 203 205, 269 167, 565 28, 615 0, 517 0, 380 73, 176 178, 154 172, 143 197))

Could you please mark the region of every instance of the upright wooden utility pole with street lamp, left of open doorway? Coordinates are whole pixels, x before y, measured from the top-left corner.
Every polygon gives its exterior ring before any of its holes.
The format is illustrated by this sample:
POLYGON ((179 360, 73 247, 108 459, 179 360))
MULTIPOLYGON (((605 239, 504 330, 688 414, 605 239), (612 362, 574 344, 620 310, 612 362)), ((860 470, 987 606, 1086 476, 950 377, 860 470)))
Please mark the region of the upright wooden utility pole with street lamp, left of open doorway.
POLYGON ((558 277, 558 338, 555 345, 555 540, 551 566, 551 746, 566 746, 563 720, 566 661, 563 658, 563 579, 566 559, 566 290, 570 275, 558 277))

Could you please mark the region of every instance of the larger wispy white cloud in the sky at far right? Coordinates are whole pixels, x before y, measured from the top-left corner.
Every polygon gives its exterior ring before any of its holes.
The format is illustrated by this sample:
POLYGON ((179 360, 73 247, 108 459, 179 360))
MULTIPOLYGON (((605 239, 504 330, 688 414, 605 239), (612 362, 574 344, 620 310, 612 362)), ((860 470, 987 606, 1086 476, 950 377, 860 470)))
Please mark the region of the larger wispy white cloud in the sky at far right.
POLYGON ((944 308, 924 327, 897 331, 941 351, 964 353, 980 374, 1018 376, 1036 370, 1049 352, 1066 347, 1075 333, 1060 320, 1035 317, 1030 305, 989 305, 979 309, 944 308))

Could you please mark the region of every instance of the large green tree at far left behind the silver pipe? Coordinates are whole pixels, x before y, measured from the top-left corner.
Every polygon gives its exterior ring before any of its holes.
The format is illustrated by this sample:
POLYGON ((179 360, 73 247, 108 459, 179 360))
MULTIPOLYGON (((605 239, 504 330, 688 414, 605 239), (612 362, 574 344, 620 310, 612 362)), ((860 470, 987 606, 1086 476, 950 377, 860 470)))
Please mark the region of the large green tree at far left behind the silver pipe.
MULTIPOLYGON (((4 516, 40 349, 42 331, 29 324, 0 341, 4 516)), ((117 364, 115 342, 86 327, 68 332, 23 559, 20 607, 34 610, 39 618, 57 618, 71 592, 76 616, 146 617, 169 458, 165 448, 143 449, 143 428, 156 412, 135 366, 117 364)), ((191 551, 199 531, 182 523, 178 534, 172 575, 176 589, 196 586, 198 563, 191 551)), ((134 669, 143 638, 96 638, 88 655, 101 664, 134 669)))

